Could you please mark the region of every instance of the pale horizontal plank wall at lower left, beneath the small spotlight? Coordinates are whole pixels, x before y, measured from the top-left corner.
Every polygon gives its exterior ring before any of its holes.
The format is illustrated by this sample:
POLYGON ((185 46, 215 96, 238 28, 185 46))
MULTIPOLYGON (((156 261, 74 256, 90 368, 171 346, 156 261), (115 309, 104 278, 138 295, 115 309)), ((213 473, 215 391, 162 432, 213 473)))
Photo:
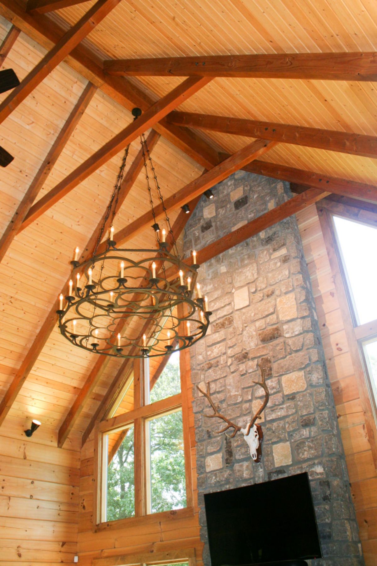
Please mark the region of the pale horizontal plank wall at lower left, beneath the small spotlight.
POLYGON ((80 451, 43 425, 24 434, 32 414, 8 416, 0 430, 0 564, 57 566, 77 554, 80 451))

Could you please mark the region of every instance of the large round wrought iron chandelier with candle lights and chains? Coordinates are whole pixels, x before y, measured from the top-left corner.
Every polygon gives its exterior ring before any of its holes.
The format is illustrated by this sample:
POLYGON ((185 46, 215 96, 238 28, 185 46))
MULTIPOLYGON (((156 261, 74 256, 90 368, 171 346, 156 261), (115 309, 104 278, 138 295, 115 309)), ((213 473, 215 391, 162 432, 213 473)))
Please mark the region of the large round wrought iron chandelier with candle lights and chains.
MULTIPOLYGON (((135 108, 132 114, 137 119, 141 110, 135 108)), ((144 134, 140 143, 157 247, 132 250, 118 248, 114 241, 112 222, 128 145, 93 255, 80 263, 76 248, 68 293, 65 298, 60 294, 57 310, 60 332, 71 344, 121 358, 161 356, 188 348, 205 336, 211 315, 197 282, 196 252, 192 265, 181 260, 144 134), (157 223, 149 171, 167 229, 160 230, 157 223), (109 235, 100 246, 110 215, 109 235), (101 247, 103 251, 98 251, 101 247)))

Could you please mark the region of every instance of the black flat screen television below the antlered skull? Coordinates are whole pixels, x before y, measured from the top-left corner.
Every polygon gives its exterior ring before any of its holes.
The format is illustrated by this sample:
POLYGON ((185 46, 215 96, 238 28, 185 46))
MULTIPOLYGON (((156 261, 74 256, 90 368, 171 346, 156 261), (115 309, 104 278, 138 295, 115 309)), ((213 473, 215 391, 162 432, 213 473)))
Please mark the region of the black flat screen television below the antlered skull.
POLYGON ((307 473, 204 496, 212 566, 322 558, 307 473))

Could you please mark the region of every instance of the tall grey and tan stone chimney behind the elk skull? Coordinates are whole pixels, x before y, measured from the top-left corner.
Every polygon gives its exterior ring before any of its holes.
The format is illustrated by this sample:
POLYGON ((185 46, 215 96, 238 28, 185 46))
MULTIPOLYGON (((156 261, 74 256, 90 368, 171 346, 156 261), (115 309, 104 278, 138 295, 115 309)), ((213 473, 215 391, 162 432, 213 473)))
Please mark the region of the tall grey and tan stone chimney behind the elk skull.
MULTIPOLYGON (((185 230, 184 251, 200 250, 291 196, 289 186, 238 171, 201 199, 185 230)), ((200 261, 200 254, 198 255, 200 261)), ((313 564, 364 564, 335 405, 296 219, 287 218, 200 267, 211 325, 191 349, 194 386, 245 426, 263 401, 257 363, 272 360, 270 402, 259 421, 262 461, 244 436, 217 434, 222 421, 193 388, 203 560, 210 564, 203 494, 307 471, 324 558, 313 564)), ((310 563, 310 561, 309 561, 310 563)))

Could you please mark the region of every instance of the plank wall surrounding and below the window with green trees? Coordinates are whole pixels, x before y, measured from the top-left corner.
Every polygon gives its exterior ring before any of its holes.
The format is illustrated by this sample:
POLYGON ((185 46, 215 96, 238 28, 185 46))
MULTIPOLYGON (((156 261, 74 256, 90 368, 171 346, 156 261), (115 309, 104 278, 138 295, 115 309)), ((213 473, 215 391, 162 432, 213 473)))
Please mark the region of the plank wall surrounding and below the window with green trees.
POLYGON ((188 377, 189 429, 194 490, 194 512, 183 517, 171 516, 163 521, 153 515, 130 520, 123 528, 110 526, 93 532, 93 433, 81 451, 79 534, 78 550, 80 566, 89 566, 94 558, 107 558, 140 552, 164 552, 194 548, 198 566, 202 565, 202 543, 199 536, 199 520, 196 485, 196 449, 194 417, 192 413, 192 384, 188 377))

